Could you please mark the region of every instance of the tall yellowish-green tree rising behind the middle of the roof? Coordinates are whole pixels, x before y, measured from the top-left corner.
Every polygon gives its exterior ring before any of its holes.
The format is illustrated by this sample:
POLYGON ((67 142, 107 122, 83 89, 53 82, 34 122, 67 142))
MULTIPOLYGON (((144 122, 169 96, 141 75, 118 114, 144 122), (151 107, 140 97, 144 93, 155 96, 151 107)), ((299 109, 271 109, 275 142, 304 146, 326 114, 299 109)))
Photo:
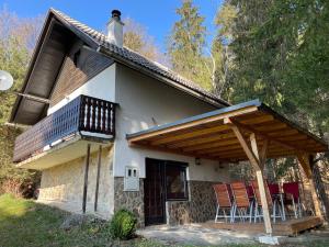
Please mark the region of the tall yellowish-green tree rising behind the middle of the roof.
POLYGON ((173 24, 168 40, 171 65, 180 75, 211 89, 209 59, 204 56, 204 18, 200 15, 198 8, 193 5, 192 0, 184 0, 175 12, 179 20, 173 24))

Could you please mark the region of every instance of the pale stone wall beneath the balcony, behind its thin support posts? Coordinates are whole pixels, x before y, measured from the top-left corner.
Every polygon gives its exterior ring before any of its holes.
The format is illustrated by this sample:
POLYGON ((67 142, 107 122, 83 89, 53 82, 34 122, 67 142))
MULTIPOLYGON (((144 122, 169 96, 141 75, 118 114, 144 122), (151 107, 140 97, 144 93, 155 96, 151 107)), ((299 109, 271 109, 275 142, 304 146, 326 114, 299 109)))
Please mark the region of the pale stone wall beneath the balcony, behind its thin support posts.
MULTIPOLYGON (((94 212, 98 153, 90 157, 87 191, 87 213, 110 218, 113 214, 113 151, 103 148, 99 181, 98 212, 94 212)), ((82 213, 86 157, 43 170, 38 202, 63 210, 82 213)))

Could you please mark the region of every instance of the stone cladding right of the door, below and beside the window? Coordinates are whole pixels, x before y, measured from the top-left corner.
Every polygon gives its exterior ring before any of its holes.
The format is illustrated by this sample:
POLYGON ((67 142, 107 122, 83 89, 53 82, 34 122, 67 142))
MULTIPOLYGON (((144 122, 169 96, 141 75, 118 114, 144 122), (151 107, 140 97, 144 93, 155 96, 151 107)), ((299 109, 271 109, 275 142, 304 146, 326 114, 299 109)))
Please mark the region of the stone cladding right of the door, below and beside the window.
POLYGON ((201 223, 215 218, 216 197, 214 182, 189 181, 189 201, 168 201, 167 222, 170 225, 201 223))

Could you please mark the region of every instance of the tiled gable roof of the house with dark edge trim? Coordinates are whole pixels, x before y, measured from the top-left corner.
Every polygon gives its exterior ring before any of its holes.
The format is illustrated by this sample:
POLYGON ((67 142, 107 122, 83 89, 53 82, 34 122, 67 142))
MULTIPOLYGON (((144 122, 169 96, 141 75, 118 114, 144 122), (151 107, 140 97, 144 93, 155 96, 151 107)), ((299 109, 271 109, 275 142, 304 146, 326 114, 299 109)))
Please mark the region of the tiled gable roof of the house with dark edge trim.
MULTIPOLYGON (((49 37, 48 29, 52 25, 52 20, 54 18, 56 19, 57 22, 63 24, 66 29, 71 31, 79 38, 84 41, 91 48, 98 50, 99 53, 102 53, 103 55, 110 56, 112 59, 116 60, 117 63, 137 69, 141 72, 147 74, 148 76, 152 76, 158 80, 161 80, 170 86, 173 86, 185 92, 189 92, 192 96, 198 97, 200 99, 207 101, 216 106, 230 105, 225 100, 201 88, 193 81, 181 77, 180 75, 173 72, 172 70, 166 68, 164 66, 159 65, 158 63, 152 61, 136 52, 133 52, 132 49, 128 49, 126 47, 118 47, 110 43, 104 34, 54 9, 49 10, 48 15, 46 18, 42 34, 39 36, 37 46, 35 48, 34 55, 29 66, 29 70, 22 88, 22 92, 31 93, 29 91, 29 88, 31 88, 33 83, 35 88, 39 87, 39 83, 36 83, 36 80, 31 80, 30 78, 33 76, 34 72, 33 68, 38 61, 37 57, 38 57, 38 53, 41 53, 43 48, 44 40, 49 37)), ((60 55, 63 56, 63 54, 60 55)), ((55 81, 52 81, 52 83, 55 83, 55 81)), ((49 89, 49 90, 45 90, 45 93, 41 93, 41 94, 38 93, 37 96, 48 99, 50 97, 50 93, 52 90, 49 89)), ((22 101, 23 101, 22 97, 18 97, 10 122, 16 122, 15 121, 16 113, 18 113, 16 111, 21 106, 20 104, 22 103, 22 101)), ((42 109, 44 105, 41 102, 38 102, 37 104, 39 111, 39 109, 42 109)), ((26 111, 26 114, 27 112, 29 111, 26 111)))

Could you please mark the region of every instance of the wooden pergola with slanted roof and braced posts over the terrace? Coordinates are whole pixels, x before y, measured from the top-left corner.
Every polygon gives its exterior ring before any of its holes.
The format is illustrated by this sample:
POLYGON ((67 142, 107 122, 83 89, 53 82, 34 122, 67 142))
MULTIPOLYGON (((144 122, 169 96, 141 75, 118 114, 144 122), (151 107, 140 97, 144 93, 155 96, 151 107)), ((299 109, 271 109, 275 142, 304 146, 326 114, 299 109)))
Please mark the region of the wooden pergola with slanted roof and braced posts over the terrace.
POLYGON ((249 160, 259 183, 268 234, 272 234, 272 225, 263 180, 265 160, 297 157, 309 180, 316 215, 321 217, 311 157, 327 151, 328 145, 259 100, 128 134, 127 139, 131 146, 192 157, 227 162, 249 160))

